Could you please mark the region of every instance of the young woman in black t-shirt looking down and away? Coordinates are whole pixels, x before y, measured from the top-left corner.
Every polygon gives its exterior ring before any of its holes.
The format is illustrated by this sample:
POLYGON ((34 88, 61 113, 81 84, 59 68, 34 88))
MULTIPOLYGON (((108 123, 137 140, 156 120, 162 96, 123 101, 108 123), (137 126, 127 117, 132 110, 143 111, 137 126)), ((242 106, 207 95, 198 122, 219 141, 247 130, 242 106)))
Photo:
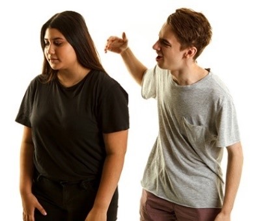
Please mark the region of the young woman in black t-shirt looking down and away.
POLYGON ((23 220, 117 220, 128 94, 102 67, 77 12, 55 14, 40 38, 42 74, 16 117, 23 220))

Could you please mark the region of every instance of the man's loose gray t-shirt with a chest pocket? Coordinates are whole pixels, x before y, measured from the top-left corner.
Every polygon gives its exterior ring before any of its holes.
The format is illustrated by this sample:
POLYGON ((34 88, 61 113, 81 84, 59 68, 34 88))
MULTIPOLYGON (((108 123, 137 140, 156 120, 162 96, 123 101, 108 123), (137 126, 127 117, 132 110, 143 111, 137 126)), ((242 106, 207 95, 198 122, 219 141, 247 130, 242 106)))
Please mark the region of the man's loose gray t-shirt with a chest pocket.
POLYGON ((240 141, 227 87, 212 72, 180 86, 169 71, 156 66, 145 72, 142 96, 157 99, 159 118, 142 187, 187 207, 221 207, 223 147, 240 141))

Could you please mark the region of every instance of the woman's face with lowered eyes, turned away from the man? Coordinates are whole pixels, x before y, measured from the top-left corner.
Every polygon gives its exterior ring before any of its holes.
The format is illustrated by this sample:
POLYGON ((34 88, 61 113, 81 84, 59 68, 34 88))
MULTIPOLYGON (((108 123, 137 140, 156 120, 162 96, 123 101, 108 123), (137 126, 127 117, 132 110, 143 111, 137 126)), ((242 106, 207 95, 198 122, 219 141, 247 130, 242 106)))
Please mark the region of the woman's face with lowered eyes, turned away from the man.
POLYGON ((44 42, 44 56, 53 70, 68 70, 78 64, 74 48, 58 29, 46 29, 44 42))

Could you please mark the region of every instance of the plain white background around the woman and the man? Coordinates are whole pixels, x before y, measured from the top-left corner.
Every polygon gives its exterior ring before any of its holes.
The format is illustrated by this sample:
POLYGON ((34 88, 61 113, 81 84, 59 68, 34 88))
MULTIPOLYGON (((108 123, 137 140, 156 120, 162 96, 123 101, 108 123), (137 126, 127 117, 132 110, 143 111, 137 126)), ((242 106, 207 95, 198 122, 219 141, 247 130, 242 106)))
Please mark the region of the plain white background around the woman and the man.
MULTIPOLYGON (((89 27, 102 64, 130 96, 128 151, 119 183, 119 221, 139 220, 140 180, 158 132, 156 103, 144 100, 120 55, 104 53, 111 35, 128 36, 130 47, 146 66, 155 64, 152 45, 169 14, 188 7, 205 14, 213 29, 212 42, 199 64, 220 75, 233 95, 244 147, 244 170, 232 220, 255 218, 255 10, 253 1, 1 1, 0 86, 0 216, 21 220, 18 190, 22 126, 14 122, 29 82, 41 72, 40 28, 53 14, 63 10, 81 13, 89 27)), ((226 153, 225 153, 226 154, 226 153)), ((226 155, 223 158, 225 173, 226 155)), ((207 194, 207 193, 206 193, 207 194)), ((4 217, 4 219, 3 219, 4 217)))

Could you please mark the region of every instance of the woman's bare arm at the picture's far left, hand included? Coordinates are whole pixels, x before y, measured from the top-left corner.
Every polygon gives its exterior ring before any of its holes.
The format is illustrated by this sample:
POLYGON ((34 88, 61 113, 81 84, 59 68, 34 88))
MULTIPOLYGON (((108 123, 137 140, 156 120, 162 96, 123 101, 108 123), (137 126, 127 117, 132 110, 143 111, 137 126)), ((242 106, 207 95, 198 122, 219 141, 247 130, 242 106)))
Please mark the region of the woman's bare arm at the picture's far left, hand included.
POLYGON ((20 194, 23 206, 23 220, 33 221, 35 208, 42 214, 46 211, 32 193, 34 145, 29 127, 24 127, 20 149, 20 194))

